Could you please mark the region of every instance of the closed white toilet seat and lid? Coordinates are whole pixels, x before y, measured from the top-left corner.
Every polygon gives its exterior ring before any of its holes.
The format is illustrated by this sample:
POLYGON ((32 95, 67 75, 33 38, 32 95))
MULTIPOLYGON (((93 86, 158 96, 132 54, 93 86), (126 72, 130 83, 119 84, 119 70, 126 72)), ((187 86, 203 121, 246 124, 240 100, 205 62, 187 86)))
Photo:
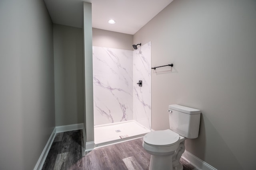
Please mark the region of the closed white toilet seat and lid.
POLYGON ((167 129, 163 131, 152 131, 144 136, 143 141, 151 146, 166 147, 175 145, 179 139, 180 135, 178 133, 167 129))

